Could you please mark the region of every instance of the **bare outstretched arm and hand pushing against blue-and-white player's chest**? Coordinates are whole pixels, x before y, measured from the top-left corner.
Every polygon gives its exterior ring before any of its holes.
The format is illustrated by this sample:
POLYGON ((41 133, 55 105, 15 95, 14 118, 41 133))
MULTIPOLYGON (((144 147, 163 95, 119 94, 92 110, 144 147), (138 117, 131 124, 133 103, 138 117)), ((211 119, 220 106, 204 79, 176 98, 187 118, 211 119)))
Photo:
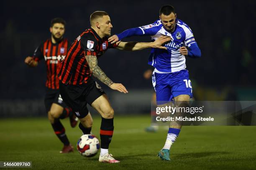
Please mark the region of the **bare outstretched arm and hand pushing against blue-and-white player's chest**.
POLYGON ((166 50, 166 47, 163 47, 162 44, 170 40, 172 39, 169 36, 161 36, 154 42, 120 42, 117 48, 128 51, 143 50, 149 47, 166 50))

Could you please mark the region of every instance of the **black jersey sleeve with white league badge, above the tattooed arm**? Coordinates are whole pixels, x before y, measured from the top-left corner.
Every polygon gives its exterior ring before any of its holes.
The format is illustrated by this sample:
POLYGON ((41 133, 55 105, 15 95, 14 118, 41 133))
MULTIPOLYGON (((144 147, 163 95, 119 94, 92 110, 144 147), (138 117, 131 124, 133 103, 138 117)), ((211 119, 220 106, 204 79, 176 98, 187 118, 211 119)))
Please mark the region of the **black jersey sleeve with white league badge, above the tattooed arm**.
POLYGON ((86 55, 95 55, 96 56, 96 46, 97 39, 94 35, 87 34, 80 39, 80 45, 85 52, 86 55))

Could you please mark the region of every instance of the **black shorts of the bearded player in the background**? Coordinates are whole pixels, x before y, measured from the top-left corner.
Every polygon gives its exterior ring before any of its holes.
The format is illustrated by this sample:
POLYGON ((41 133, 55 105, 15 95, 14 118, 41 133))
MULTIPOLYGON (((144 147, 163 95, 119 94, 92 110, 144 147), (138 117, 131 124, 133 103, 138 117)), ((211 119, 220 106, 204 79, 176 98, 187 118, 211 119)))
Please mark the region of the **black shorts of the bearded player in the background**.
POLYGON ((53 90, 48 87, 46 87, 46 94, 44 97, 44 105, 46 108, 46 112, 49 112, 51 109, 52 103, 56 103, 57 105, 60 105, 61 107, 67 107, 67 105, 63 102, 59 90, 53 90))

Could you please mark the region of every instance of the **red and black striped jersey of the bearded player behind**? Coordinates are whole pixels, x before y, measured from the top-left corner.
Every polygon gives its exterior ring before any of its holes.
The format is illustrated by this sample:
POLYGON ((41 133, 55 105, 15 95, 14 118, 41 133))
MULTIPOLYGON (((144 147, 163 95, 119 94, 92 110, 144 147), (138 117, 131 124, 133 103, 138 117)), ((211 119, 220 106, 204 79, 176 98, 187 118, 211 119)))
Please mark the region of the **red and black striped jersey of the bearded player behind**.
POLYGON ((35 61, 45 60, 46 64, 46 87, 50 89, 59 89, 59 79, 57 68, 59 63, 64 60, 67 55, 69 42, 67 39, 62 39, 54 44, 51 39, 46 40, 39 45, 33 55, 35 61))

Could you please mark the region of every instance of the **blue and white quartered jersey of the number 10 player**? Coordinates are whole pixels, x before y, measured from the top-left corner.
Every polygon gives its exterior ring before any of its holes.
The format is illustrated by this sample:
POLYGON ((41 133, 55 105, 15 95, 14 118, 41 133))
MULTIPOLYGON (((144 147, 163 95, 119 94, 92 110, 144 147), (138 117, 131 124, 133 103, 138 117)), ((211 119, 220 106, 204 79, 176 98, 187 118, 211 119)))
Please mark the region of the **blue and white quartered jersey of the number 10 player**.
POLYGON ((152 48, 148 64, 155 67, 155 72, 169 73, 184 70, 186 68, 186 58, 179 52, 182 46, 190 46, 195 43, 192 30, 182 20, 176 19, 174 32, 168 32, 164 29, 161 20, 155 23, 139 27, 143 35, 151 35, 152 40, 156 40, 161 35, 172 37, 172 41, 164 46, 166 50, 152 48))

